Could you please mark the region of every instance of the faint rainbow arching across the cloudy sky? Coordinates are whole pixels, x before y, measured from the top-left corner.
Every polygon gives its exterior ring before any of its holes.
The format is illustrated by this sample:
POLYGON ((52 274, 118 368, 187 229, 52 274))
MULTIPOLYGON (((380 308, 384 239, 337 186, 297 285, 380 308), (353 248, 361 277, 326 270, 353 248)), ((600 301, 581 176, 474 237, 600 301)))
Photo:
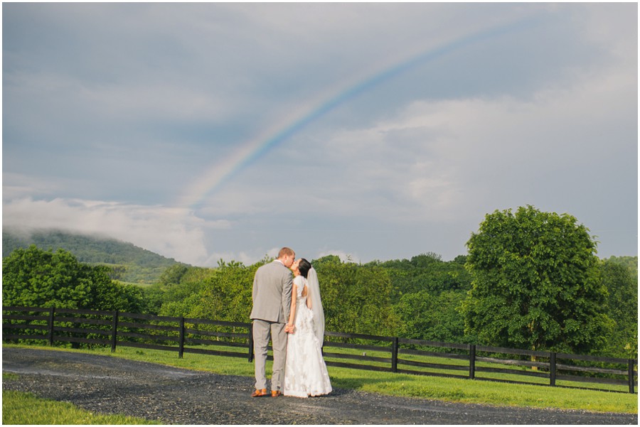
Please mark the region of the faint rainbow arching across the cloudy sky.
POLYGON ((348 86, 346 90, 342 90, 329 97, 329 99, 311 107, 308 112, 302 114, 302 117, 282 120, 282 125, 274 126, 274 129, 263 132, 260 136, 255 137, 241 146, 238 151, 235 151, 235 153, 226 158, 222 163, 215 163, 208 168, 205 173, 198 177, 186 189, 181 200, 178 202, 178 206, 188 208, 196 207, 207 195, 220 190, 233 176, 247 168, 251 163, 257 161, 258 158, 264 156, 265 153, 282 144, 283 141, 286 141, 294 134, 297 134, 309 123, 316 121, 349 99, 357 97, 358 94, 371 90, 417 65, 430 63, 444 55, 465 48, 466 46, 480 43, 483 40, 510 33, 511 31, 521 30, 534 21, 538 20, 535 18, 527 18, 509 23, 505 26, 498 26, 496 28, 490 28, 489 30, 473 33, 439 45, 437 48, 422 51, 417 55, 413 55, 408 60, 386 67, 384 70, 358 81, 355 85, 348 86))

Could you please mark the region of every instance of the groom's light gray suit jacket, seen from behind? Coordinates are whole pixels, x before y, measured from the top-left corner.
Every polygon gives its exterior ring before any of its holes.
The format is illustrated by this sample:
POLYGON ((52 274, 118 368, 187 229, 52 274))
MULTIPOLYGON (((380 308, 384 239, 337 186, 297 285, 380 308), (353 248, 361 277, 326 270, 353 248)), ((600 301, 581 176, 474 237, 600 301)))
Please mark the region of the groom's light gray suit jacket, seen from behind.
POLYGON ((293 276, 279 261, 260 266, 253 279, 253 308, 250 318, 287 323, 291 311, 293 276))

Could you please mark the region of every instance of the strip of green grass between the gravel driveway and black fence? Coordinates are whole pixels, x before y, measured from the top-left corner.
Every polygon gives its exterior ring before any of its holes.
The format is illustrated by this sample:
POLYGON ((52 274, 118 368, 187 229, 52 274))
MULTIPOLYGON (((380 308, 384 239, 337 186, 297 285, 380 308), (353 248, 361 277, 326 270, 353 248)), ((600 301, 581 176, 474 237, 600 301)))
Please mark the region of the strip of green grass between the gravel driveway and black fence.
MULTIPOLYGON (((5 345, 4 347, 14 347, 5 345)), ((30 346, 33 348, 33 346, 30 346)), ((60 347, 38 347, 47 350, 68 350, 60 347)), ((235 349, 237 351, 237 349, 235 349)), ((96 350, 70 350, 90 354, 123 357, 129 360, 154 362, 173 367, 196 369, 218 374, 253 377, 253 364, 246 358, 221 357, 185 353, 182 359, 176 352, 141 350, 118 347, 96 350)), ((267 362, 267 374, 271 365, 267 362)), ((471 381, 469 379, 427 377, 422 375, 370 372, 360 369, 329 367, 331 383, 336 388, 356 389, 393 396, 422 399, 437 399, 495 406, 521 406, 533 408, 555 408, 587 410, 596 412, 621 412, 637 414, 638 395, 610 393, 582 389, 566 389, 538 385, 503 384, 471 381)), ((247 393, 250 390, 247 390, 247 393)))

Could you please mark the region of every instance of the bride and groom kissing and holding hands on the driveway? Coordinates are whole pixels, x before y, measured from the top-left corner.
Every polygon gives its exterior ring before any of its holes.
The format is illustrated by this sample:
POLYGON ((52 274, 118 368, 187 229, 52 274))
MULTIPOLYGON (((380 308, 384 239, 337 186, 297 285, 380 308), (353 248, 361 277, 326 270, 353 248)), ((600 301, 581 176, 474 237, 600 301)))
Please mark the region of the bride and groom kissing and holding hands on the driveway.
POLYGON ((324 311, 318 275, 311 263, 283 247, 253 279, 255 391, 267 396, 267 346, 272 342, 271 396, 309 397, 331 392, 322 357, 324 311), (295 277, 294 277, 295 276, 295 277))

